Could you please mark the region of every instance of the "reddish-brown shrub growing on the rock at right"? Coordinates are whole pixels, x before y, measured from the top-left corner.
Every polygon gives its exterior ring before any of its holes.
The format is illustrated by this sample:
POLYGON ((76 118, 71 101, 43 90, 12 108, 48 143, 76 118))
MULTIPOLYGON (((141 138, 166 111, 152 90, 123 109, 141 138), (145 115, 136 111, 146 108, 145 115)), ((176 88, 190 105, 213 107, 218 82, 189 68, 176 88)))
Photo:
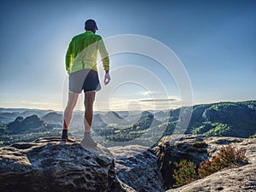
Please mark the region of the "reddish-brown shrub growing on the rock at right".
POLYGON ((219 149, 212 160, 206 160, 198 168, 199 177, 207 177, 214 172, 224 169, 225 167, 242 166, 248 162, 245 156, 245 150, 236 149, 227 146, 219 149))

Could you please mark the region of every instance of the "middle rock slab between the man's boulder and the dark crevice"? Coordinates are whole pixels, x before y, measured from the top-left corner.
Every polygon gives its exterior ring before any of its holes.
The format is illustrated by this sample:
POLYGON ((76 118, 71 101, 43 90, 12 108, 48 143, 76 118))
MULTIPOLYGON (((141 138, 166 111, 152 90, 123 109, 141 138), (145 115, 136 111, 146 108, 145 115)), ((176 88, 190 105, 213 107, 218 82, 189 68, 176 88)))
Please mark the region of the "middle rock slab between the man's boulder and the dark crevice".
POLYGON ((138 192, 164 192, 157 157, 152 149, 139 145, 108 148, 116 162, 119 179, 138 192))

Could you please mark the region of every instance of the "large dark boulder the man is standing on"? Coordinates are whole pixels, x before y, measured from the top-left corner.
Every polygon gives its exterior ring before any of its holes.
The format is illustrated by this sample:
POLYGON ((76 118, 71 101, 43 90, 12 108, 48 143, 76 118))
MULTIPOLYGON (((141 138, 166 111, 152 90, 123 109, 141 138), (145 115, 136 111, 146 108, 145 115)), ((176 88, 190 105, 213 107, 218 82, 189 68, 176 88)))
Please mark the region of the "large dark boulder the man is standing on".
POLYGON ((112 154, 58 137, 15 143, 0 150, 0 191, 135 191, 115 176, 112 154))

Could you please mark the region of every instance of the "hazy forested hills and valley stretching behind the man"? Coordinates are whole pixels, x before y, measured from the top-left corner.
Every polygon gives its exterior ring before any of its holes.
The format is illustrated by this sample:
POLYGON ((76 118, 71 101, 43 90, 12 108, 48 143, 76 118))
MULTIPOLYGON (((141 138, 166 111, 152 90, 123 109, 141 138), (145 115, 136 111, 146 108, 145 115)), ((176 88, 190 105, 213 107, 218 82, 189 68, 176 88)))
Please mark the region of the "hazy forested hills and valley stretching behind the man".
MULTIPOLYGON (((5 108, 1 110, 0 108, 0 121, 2 119, 0 124, 0 146, 15 142, 32 141, 38 137, 61 135, 62 113, 29 109, 19 110, 5 108), (31 113, 33 113, 32 116, 26 117, 31 113)), ((125 121, 122 117, 125 117, 127 112, 95 114, 92 129, 99 141, 102 141, 102 137, 105 138, 106 146, 109 144, 108 141, 131 141, 143 136, 151 128, 162 129, 162 127, 165 127, 162 137, 176 133, 183 134, 183 131, 176 129, 180 111, 180 108, 157 113, 145 111, 132 125, 121 124, 125 121), (115 125, 105 123, 104 119, 113 117, 116 117, 114 119, 115 125)), ((83 137, 82 119, 83 113, 74 113, 73 124, 70 129, 73 137, 83 137)), ((154 131, 154 133, 156 135, 148 134, 144 138, 145 141, 141 138, 141 142, 147 143, 153 141, 154 137, 160 137, 157 131, 154 131)), ((203 134, 216 137, 256 137, 256 101, 195 105, 185 134, 203 134)))

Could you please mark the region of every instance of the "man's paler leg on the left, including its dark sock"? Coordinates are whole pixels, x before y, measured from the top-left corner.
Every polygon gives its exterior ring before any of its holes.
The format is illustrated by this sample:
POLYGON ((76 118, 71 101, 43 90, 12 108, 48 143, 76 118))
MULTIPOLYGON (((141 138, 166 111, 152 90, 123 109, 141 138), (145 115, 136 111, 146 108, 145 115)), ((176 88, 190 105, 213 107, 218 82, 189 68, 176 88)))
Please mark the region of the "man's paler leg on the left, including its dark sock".
POLYGON ((63 131, 61 136, 61 140, 63 142, 67 142, 67 130, 73 116, 73 108, 75 108, 78 102, 78 98, 79 98, 79 93, 73 93, 73 92, 68 93, 67 107, 65 108, 64 115, 63 115, 64 116, 63 131))

